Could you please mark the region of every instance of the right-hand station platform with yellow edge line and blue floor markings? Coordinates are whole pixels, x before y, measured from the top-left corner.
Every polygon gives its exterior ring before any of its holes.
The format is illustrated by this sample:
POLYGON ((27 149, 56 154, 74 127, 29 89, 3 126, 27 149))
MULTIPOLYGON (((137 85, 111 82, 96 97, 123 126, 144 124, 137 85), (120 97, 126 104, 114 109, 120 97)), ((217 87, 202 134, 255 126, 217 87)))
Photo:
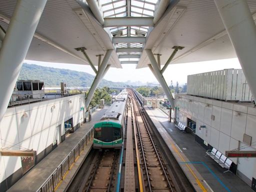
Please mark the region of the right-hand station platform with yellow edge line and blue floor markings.
POLYGON ((176 128, 161 109, 151 106, 144 108, 196 191, 253 191, 237 175, 223 173, 226 169, 205 156, 206 150, 195 141, 194 135, 176 128), (203 187, 196 187, 199 184, 196 181, 203 187))

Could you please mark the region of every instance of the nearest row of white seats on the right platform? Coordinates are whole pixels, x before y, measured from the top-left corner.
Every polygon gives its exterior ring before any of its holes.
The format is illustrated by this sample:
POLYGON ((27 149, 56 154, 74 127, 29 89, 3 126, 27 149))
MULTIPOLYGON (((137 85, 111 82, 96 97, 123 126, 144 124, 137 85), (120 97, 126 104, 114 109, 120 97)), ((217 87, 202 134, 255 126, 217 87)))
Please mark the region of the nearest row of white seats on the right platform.
MULTIPOLYGON (((207 150, 205 156, 210 156, 214 161, 216 161, 222 168, 226 168, 227 170, 223 173, 230 171, 229 168, 232 164, 232 161, 227 158, 224 154, 218 151, 216 148, 212 148, 211 150, 207 150)), ((230 171, 231 172, 231 171, 230 171)))

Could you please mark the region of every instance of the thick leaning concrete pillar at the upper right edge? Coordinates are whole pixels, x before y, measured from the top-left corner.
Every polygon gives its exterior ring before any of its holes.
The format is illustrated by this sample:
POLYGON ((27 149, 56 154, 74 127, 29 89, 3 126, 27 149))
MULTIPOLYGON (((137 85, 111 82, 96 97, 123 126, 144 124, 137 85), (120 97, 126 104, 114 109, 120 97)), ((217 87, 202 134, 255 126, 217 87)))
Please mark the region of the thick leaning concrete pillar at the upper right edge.
POLYGON ((251 93, 256 98, 256 26, 246 0, 214 0, 240 61, 251 93))

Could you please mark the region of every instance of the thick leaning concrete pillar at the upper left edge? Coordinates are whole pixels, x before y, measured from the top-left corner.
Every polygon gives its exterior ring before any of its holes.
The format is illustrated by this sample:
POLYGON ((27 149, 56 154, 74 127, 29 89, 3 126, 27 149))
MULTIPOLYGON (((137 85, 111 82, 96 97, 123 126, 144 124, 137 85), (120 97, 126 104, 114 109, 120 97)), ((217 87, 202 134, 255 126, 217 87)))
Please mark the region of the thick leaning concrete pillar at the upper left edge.
POLYGON ((17 0, 0 49, 0 120, 47 0, 17 0))

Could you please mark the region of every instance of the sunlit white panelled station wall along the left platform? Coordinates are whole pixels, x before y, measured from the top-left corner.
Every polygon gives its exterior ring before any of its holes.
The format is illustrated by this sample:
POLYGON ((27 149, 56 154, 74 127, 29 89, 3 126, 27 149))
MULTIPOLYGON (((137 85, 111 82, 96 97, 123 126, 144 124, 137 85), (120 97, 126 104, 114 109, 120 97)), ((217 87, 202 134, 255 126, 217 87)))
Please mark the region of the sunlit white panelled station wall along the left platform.
MULTIPOLYGON (((36 150, 37 163, 60 142, 59 126, 62 136, 65 120, 73 118, 73 126, 79 127, 84 106, 84 94, 77 94, 7 108, 0 121, 0 148, 36 150)), ((0 156, 0 191, 21 176, 21 157, 0 156)))

